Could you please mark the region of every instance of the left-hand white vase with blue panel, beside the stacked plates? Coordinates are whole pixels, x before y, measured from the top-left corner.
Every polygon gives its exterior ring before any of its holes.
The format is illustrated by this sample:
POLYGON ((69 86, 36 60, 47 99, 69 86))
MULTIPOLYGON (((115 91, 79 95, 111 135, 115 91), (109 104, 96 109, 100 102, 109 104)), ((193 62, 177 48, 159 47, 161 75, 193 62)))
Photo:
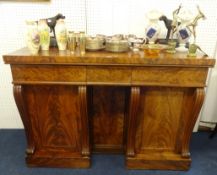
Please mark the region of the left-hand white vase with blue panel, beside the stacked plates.
POLYGON ((149 41, 149 44, 154 44, 160 33, 160 26, 158 24, 159 18, 162 16, 162 13, 156 10, 152 10, 147 13, 147 18, 149 19, 149 24, 146 28, 146 38, 149 41))

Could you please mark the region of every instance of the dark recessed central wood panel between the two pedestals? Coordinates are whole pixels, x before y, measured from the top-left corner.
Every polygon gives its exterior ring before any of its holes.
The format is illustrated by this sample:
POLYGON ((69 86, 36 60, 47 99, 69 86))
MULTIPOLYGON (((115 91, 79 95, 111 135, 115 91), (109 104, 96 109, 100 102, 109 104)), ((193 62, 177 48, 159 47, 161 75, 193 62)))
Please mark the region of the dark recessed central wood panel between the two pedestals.
POLYGON ((94 152, 123 152, 125 87, 93 87, 92 146, 94 152))

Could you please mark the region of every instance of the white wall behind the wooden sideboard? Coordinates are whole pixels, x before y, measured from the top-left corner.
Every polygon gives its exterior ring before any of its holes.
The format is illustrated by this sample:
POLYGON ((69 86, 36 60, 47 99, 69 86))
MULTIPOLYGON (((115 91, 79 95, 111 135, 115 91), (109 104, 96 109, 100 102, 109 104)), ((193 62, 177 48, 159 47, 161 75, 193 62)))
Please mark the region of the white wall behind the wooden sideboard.
MULTIPOLYGON (((214 55, 217 41, 216 0, 50 0, 50 2, 2 2, 0 1, 0 57, 25 47, 25 20, 38 20, 63 13, 69 30, 86 31, 87 34, 117 33, 144 36, 147 19, 145 14, 157 9, 172 17, 172 11, 182 3, 196 13, 199 4, 207 20, 199 21, 197 43, 210 55, 214 55)), ((162 25, 161 36, 166 29, 162 25)), ((217 109, 217 68, 210 78, 206 104, 202 111, 203 122, 215 122, 217 109)), ((13 100, 11 73, 0 59, 0 128, 22 128, 13 100)))

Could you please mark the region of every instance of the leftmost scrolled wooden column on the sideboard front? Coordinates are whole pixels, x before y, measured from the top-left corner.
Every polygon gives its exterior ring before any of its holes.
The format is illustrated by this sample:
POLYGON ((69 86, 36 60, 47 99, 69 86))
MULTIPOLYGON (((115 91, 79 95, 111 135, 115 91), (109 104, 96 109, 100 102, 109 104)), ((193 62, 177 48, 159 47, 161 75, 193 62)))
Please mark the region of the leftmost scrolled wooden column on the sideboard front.
POLYGON ((22 85, 14 85, 13 87, 14 91, 14 99, 16 102, 16 105, 18 107, 25 132, 26 132, 26 138, 27 138, 27 149, 26 154, 31 155, 34 154, 35 151, 35 145, 33 141, 33 133, 32 133, 32 124, 28 117, 27 111, 26 111, 26 104, 23 97, 23 86, 22 85))

